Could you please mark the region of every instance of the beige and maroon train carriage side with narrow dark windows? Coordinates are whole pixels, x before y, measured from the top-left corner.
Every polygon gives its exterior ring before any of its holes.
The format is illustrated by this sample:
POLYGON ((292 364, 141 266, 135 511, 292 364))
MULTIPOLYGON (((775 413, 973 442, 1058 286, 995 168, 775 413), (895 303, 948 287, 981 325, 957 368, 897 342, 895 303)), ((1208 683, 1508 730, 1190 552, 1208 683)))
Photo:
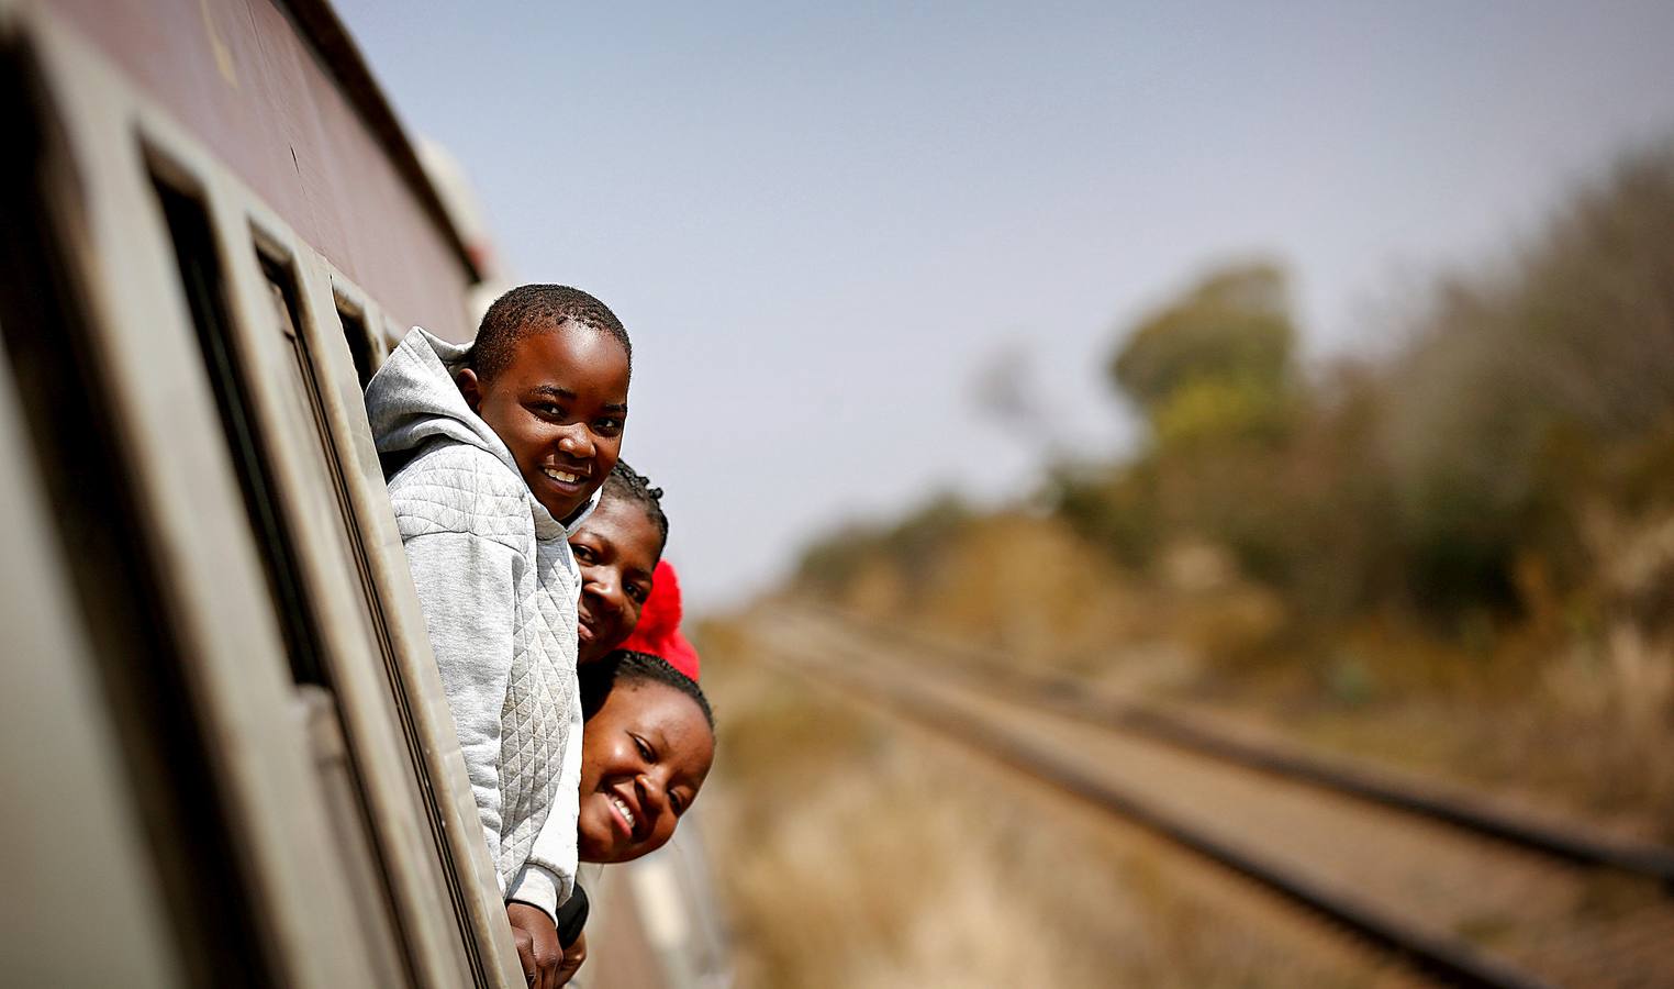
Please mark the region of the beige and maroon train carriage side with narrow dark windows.
POLYGON ((0 2, 0 982, 522 986, 372 448, 470 251, 323 3, 0 2))

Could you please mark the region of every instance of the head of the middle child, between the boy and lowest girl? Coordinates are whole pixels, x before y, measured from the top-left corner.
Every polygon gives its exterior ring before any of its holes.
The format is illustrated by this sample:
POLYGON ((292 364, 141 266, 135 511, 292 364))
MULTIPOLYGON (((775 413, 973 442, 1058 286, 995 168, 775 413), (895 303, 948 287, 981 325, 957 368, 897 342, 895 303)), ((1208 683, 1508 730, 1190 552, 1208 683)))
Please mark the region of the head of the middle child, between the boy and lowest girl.
POLYGON ((599 505, 569 537, 581 567, 576 663, 583 666, 621 646, 639 623, 668 542, 661 497, 663 489, 618 460, 599 505))

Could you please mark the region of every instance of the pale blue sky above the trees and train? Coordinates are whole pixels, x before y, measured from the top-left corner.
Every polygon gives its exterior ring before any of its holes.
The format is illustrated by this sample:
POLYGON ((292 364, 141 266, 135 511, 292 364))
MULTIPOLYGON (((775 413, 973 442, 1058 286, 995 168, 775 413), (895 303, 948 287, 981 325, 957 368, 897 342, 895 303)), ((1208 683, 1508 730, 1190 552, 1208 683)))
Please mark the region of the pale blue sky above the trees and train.
POLYGON ((1666 0, 338 8, 514 274, 623 316, 700 609, 837 519, 1024 490, 1045 440, 973 402, 1008 346, 1117 450, 1117 330, 1205 264, 1276 254, 1312 355, 1376 348, 1674 134, 1666 0))

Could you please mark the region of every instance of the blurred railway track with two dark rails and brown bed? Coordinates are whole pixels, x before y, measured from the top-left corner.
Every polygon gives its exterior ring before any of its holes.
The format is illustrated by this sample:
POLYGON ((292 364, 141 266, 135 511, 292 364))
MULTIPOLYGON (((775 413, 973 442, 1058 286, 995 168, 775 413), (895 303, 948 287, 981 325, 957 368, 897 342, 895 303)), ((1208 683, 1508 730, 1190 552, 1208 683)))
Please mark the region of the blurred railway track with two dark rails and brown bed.
MULTIPOLYGON (((1674 986, 1666 848, 1272 750, 1063 683, 956 673, 892 629, 795 611, 787 661, 1232 869, 1460 986, 1674 986)), ((968 666, 966 666, 968 669, 968 666)))

